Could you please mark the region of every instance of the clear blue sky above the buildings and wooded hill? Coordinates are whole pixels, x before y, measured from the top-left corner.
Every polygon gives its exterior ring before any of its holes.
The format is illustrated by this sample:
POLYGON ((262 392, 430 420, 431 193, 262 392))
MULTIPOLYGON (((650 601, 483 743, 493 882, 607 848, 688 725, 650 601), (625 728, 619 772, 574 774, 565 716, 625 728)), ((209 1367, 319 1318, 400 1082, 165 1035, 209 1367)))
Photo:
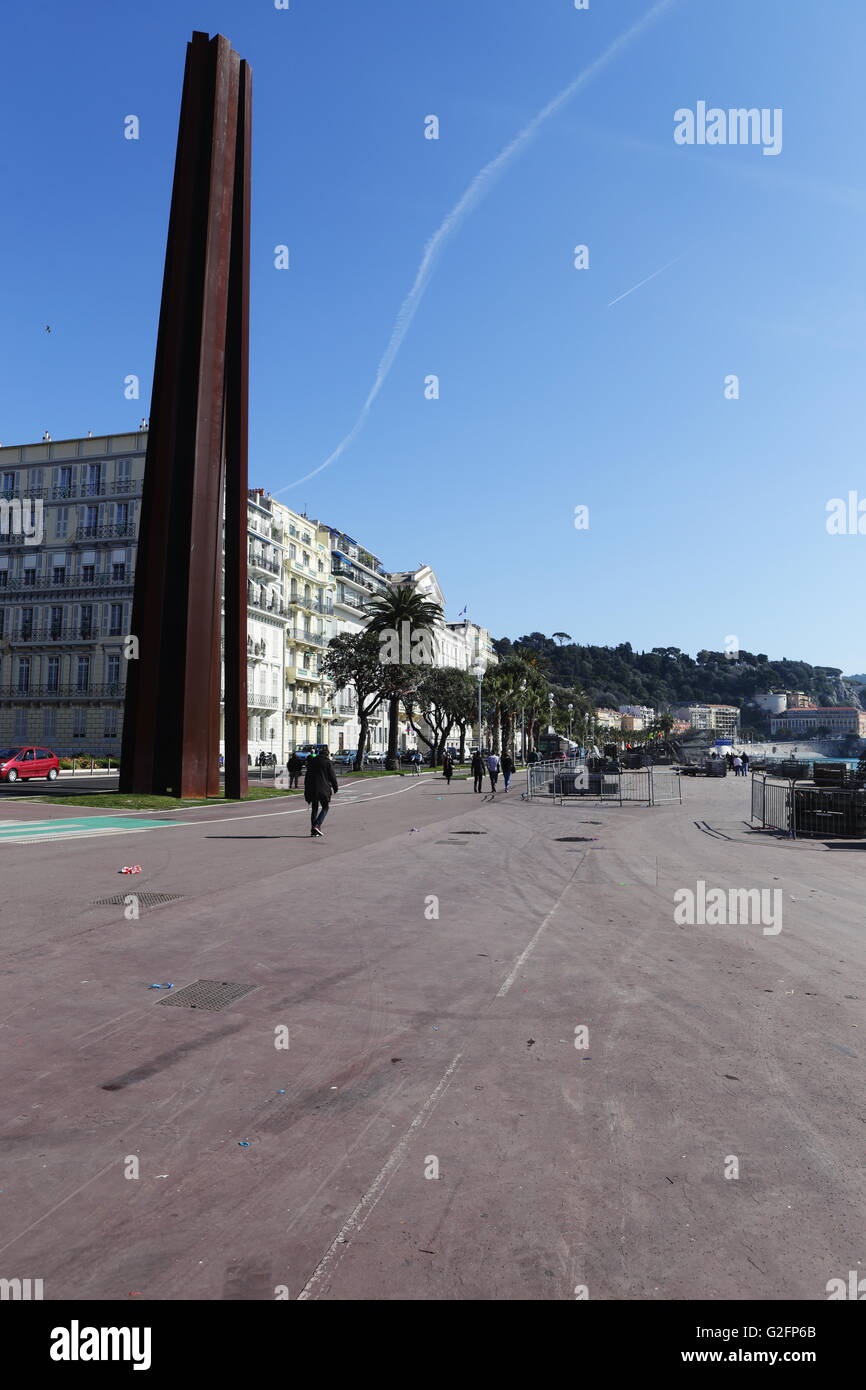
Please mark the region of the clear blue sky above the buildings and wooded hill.
POLYGON ((424 247, 480 170, 651 10, 8 10, 0 439, 149 413, 185 43, 222 32, 254 83, 250 484, 389 569, 432 564, 449 616, 468 605, 495 635, 694 653, 735 634, 865 670, 866 537, 826 530, 828 499, 866 499, 866 7, 848 0, 673 0, 485 189, 363 428, 292 486, 353 430, 424 247), (781 153, 676 145, 674 111, 699 100, 781 108, 781 153))

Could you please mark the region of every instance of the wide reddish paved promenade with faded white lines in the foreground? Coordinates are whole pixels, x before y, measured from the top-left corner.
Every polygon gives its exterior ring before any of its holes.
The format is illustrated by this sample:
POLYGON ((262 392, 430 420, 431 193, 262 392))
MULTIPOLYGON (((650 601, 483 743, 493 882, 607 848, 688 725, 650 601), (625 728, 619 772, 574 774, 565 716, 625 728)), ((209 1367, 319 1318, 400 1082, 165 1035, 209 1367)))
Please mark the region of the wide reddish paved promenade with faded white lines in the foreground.
POLYGON ((520 788, 346 780, 322 841, 296 799, 4 803, 0 1276, 824 1300, 858 1269, 863 847, 749 830, 734 778, 653 809, 520 788), (677 922, 698 880, 778 891, 781 930, 677 922), (125 894, 167 901, 96 905, 125 894), (252 988, 149 988, 199 979, 252 988))

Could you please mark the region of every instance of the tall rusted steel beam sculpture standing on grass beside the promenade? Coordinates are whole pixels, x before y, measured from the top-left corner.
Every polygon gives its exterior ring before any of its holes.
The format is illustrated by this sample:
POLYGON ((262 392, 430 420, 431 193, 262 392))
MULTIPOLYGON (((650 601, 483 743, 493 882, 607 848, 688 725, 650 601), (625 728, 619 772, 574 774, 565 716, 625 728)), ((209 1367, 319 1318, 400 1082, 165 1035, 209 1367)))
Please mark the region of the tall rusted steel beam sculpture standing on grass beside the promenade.
POLYGON ((250 115, 249 64, 221 35, 193 33, 150 406, 121 791, 220 795, 222 582, 225 795, 247 790, 250 115))

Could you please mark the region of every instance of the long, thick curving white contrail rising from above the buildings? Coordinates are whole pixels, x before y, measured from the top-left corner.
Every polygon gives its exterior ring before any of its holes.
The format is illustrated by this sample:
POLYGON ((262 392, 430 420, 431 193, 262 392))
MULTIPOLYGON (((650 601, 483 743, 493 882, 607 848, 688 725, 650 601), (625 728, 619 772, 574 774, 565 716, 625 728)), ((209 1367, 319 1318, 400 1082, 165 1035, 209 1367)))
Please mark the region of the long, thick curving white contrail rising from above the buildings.
POLYGON ((545 121, 549 121, 552 115, 562 111, 563 107, 566 107, 569 101, 571 101, 571 99, 592 81, 592 78, 598 76, 599 72, 613 63, 613 60, 619 57, 624 49, 634 43, 634 40, 638 39, 645 29, 655 24, 656 19, 660 19, 662 15, 676 3, 677 0, 656 0, 656 4, 646 11, 642 19, 638 19, 637 24, 632 24, 631 28, 626 31, 626 33, 621 33, 619 39, 614 39, 613 43, 609 44, 609 47, 606 47, 605 51, 595 60, 595 63, 591 63, 588 68, 584 68, 584 71, 575 76, 574 82, 564 88, 559 96, 555 96, 553 100, 538 113, 538 115, 534 115, 528 125, 524 125, 523 131, 520 131, 514 139, 506 145, 495 160, 491 160, 489 164, 484 165, 480 174, 475 174, 475 178, 468 185, 460 202, 450 210, 442 225, 434 232, 424 247, 424 256, 421 259, 421 264, 418 265, 414 284, 400 304, 400 311, 393 325, 391 341, 385 349, 382 360, 379 361, 375 381, 373 382, 370 395, 361 406, 360 414, 352 430, 345 439, 341 439, 334 453, 329 455, 324 463, 320 463, 311 473, 304 473, 304 475, 302 478, 296 478, 295 482, 286 484, 285 488, 279 488, 274 496, 278 496, 279 492, 288 492, 289 488, 296 488, 302 482, 307 482, 309 478, 314 478, 317 473, 321 473, 322 468, 329 467, 329 464, 339 459, 341 453, 343 453, 343 450, 348 449, 352 441, 357 436, 364 421, 367 420, 367 416, 370 414, 373 402, 385 385, 388 374, 393 367, 396 354, 403 345, 403 339, 409 332, 410 324, 418 310, 418 304, 424 297, 424 291, 430 284, 435 263, 445 243, 455 235, 456 231, 459 231, 466 215, 471 213, 485 193, 489 192, 493 181, 503 174, 512 160, 516 158, 516 156, 535 139, 545 121))

